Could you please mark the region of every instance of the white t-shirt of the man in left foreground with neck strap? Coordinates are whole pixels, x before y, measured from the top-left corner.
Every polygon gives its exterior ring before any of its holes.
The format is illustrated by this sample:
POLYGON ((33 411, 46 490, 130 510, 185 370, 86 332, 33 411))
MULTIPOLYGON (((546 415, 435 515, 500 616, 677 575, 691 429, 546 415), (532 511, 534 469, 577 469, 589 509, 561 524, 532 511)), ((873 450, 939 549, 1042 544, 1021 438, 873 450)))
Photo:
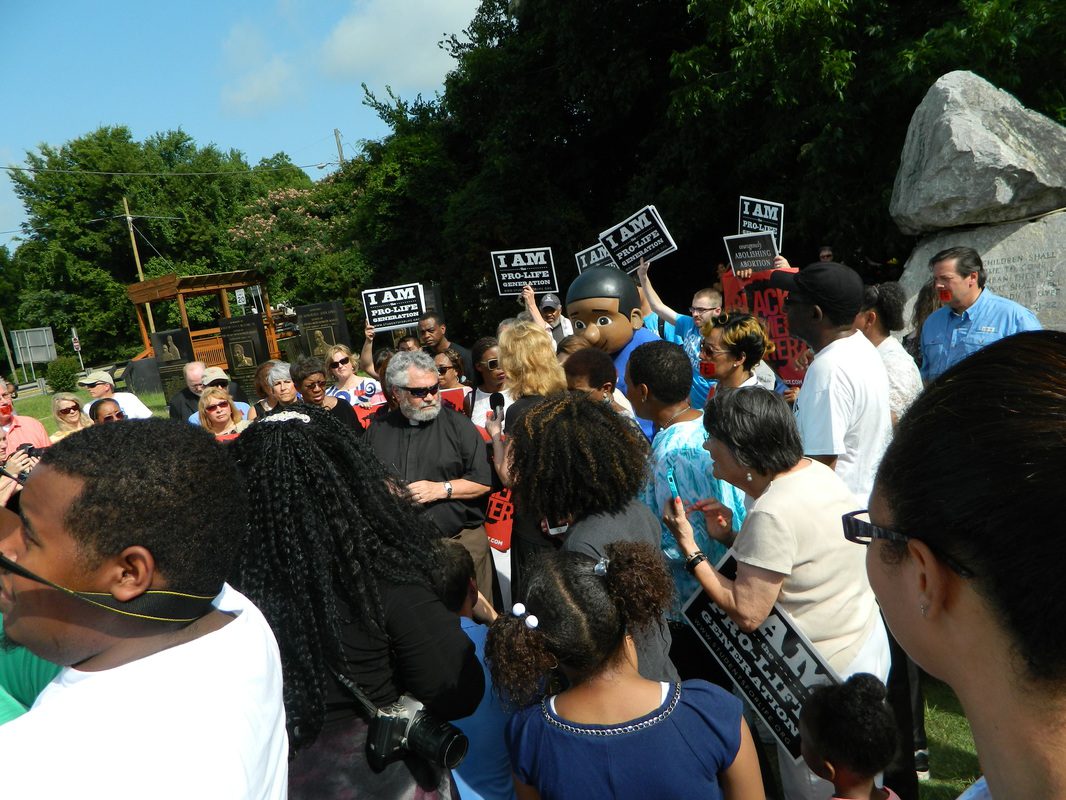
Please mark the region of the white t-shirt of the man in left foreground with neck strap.
POLYGON ((225 587, 232 622, 100 672, 64 668, 0 725, 12 798, 284 800, 281 659, 266 620, 225 587))

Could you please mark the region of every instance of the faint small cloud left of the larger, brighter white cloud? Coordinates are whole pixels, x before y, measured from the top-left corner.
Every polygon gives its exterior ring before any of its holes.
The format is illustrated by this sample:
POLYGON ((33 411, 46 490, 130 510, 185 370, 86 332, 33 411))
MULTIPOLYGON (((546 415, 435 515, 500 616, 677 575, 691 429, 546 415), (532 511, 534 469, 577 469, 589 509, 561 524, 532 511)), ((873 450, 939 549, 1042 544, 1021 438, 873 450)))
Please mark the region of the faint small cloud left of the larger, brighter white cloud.
POLYGON ((266 38, 249 25, 235 25, 223 44, 233 77, 221 90, 222 107, 238 116, 256 116, 297 98, 300 81, 289 60, 272 54, 266 38))

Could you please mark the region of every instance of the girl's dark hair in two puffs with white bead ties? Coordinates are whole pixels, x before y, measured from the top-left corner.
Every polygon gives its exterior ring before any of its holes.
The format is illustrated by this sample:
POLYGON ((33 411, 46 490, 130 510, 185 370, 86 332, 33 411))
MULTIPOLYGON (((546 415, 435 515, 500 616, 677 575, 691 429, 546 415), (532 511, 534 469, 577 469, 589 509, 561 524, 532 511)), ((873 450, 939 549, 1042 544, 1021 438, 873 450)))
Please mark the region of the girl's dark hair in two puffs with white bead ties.
POLYGON ((556 551, 532 571, 524 605, 537 620, 503 614, 489 629, 485 657, 501 698, 529 705, 545 693, 558 665, 571 683, 598 674, 626 634, 660 619, 674 596, 663 555, 649 544, 614 542, 603 548, 604 572, 583 553, 556 551))

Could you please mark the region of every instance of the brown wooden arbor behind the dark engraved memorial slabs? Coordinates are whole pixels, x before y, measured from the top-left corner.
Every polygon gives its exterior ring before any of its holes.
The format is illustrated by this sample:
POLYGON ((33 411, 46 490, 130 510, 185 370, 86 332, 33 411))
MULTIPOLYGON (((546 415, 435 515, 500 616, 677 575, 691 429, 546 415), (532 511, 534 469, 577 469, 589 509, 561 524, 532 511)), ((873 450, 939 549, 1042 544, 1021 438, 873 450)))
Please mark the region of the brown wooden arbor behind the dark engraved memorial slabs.
MULTIPOLYGON (((181 326, 189 329, 189 314, 185 311, 185 298, 204 294, 216 294, 222 315, 229 318, 229 295, 227 292, 259 286, 262 292, 262 319, 266 333, 266 349, 271 358, 278 357, 277 334, 274 330, 274 317, 270 310, 270 299, 262 289, 262 278, 256 270, 240 270, 238 272, 212 272, 207 275, 182 275, 176 273, 142 281, 126 287, 133 308, 136 310, 136 322, 141 329, 141 339, 144 351, 136 358, 150 358, 156 353, 151 347, 151 338, 145 326, 145 306, 149 303, 176 300, 181 315, 181 326)), ((193 342, 196 361, 201 361, 209 367, 226 366, 226 351, 222 345, 221 329, 207 327, 203 331, 189 331, 193 342)))

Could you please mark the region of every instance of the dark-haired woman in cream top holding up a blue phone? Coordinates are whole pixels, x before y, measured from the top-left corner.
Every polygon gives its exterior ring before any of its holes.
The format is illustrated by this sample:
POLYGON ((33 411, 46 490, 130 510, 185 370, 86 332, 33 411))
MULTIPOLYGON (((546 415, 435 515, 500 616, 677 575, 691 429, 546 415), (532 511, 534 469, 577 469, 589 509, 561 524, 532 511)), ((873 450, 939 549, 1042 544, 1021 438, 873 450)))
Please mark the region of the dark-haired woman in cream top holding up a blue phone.
MULTIPOLYGON (((678 499, 663 522, 677 539, 685 567, 744 631, 758 628, 774 605, 788 612, 842 678, 869 672, 888 677, 888 637, 866 576, 866 560, 849 548, 841 518, 855 499, 836 473, 804 458, 788 403, 758 386, 718 391, 707 403, 705 447, 715 478, 746 492, 754 502, 734 535, 732 512, 715 501, 697 508, 707 532, 732 547, 737 576, 706 560, 678 499)), ((833 785, 778 751, 789 798, 829 797, 833 785)))

